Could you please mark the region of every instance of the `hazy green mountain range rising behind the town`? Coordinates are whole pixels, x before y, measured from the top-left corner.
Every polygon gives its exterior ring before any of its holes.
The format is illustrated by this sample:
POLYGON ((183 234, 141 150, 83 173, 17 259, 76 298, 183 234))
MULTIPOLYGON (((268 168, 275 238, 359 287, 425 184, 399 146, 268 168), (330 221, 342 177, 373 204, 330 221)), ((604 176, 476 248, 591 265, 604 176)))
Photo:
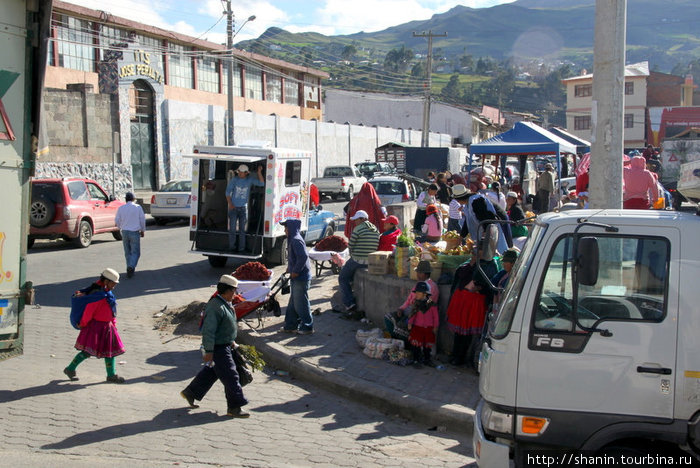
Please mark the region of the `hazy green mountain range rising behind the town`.
MULTIPOLYGON (((700 58, 698 22, 698 0, 628 0, 627 62, 649 60, 653 69, 670 71, 679 62, 700 58)), ((427 40, 413 33, 432 31, 447 33, 433 39, 433 48, 448 59, 469 54, 516 62, 568 60, 590 67, 594 26, 594 0, 517 0, 491 8, 456 6, 427 20, 371 33, 324 36, 270 28, 238 47, 266 55, 270 47, 277 48, 280 58, 300 63, 337 58, 343 47, 353 45, 366 51, 364 58, 381 62, 384 54, 401 46, 426 53, 427 40)))

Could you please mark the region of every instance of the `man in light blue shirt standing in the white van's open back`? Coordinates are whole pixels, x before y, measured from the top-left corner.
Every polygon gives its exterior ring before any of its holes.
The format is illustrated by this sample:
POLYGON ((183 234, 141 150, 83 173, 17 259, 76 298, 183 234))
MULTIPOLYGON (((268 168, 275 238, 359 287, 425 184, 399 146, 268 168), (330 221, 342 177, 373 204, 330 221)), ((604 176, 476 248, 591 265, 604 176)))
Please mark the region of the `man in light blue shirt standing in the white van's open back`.
POLYGON ((238 252, 245 250, 245 224, 248 220, 248 197, 250 187, 263 187, 265 179, 262 175, 262 165, 258 166, 257 179, 250 174, 248 166, 241 164, 236 171, 238 175, 229 180, 226 185, 226 202, 228 203, 228 247, 235 250, 236 224, 238 224, 238 252))

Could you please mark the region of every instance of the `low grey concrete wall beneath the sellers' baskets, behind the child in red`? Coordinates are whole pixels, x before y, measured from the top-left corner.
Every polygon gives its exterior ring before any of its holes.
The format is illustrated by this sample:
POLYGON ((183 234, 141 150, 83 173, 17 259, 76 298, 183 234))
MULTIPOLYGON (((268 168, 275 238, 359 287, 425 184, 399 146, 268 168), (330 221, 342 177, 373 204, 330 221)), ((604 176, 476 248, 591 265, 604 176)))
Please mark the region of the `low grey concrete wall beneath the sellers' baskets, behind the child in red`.
MULTIPOLYGON (((436 278, 433 278, 435 280, 436 278)), ((372 323, 384 328, 384 315, 396 310, 404 303, 416 281, 409 278, 397 278, 396 275, 370 275, 367 270, 358 270, 353 281, 353 291, 357 307, 364 311, 372 323), (381 291, 377 294, 377 291, 381 291)), ((450 303, 449 284, 438 285, 440 288, 440 329, 437 346, 443 353, 452 351, 452 333, 447 329, 447 306, 450 303)))

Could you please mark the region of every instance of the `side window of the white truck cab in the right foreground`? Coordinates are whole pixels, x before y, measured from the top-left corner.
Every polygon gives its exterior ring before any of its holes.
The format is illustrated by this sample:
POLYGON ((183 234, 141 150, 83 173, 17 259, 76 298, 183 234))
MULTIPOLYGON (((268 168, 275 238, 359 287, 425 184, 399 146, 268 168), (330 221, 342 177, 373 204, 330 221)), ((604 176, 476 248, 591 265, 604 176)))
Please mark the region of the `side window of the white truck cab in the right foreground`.
POLYGON ((578 325, 572 315, 573 239, 552 254, 534 311, 536 330, 580 332, 602 320, 661 321, 666 309, 670 246, 666 239, 597 237, 600 264, 593 286, 578 288, 578 325))

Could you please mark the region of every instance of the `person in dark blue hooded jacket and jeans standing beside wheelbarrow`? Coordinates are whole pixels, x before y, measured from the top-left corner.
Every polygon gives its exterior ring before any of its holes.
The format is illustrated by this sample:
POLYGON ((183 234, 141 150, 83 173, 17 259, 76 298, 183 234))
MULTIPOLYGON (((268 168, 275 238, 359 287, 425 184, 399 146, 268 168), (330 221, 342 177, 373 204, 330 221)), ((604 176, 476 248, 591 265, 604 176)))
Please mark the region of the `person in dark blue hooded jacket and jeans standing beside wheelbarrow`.
POLYGON ((283 332, 310 335, 314 332, 314 319, 311 317, 309 288, 311 287, 311 263, 306 252, 306 243, 299 233, 301 220, 283 221, 287 235, 287 272, 292 284, 292 293, 284 315, 283 332))

